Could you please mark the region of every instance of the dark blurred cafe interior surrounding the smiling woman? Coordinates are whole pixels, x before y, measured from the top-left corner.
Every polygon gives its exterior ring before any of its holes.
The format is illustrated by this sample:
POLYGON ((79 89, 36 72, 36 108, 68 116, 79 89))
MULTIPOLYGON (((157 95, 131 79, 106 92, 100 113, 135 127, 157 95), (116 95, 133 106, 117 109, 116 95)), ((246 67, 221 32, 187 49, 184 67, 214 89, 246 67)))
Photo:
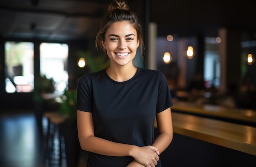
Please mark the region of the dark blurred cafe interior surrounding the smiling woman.
MULTIPOLYGON (((79 78, 108 67, 95 37, 110 2, 0 0, 3 167, 85 166, 70 122, 79 78)), ((173 98, 163 167, 255 166, 254 1, 127 2, 144 31, 134 64, 164 73, 173 98)))

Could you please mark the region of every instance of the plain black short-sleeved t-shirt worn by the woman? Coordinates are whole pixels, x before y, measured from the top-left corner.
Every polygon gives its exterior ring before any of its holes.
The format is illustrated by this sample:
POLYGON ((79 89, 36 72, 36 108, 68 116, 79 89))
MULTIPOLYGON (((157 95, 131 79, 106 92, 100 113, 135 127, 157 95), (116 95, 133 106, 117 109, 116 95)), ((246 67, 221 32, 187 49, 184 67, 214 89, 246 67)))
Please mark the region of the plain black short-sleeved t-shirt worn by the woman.
MULTIPOLYGON (((151 145, 156 113, 172 105, 166 78, 157 70, 137 68, 134 77, 117 82, 104 69, 83 75, 78 83, 77 110, 92 112, 95 136, 117 143, 151 145)), ((87 165, 126 167, 132 160, 90 153, 87 165)))

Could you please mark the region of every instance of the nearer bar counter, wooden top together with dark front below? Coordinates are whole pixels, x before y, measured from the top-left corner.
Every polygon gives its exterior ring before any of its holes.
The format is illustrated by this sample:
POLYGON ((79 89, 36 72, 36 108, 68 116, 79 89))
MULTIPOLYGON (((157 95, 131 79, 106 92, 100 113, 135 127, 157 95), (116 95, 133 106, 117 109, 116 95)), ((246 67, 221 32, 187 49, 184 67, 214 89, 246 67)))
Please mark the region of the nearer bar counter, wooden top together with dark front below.
POLYGON ((173 141, 160 155, 163 167, 255 167, 256 127, 177 112, 172 120, 173 141))

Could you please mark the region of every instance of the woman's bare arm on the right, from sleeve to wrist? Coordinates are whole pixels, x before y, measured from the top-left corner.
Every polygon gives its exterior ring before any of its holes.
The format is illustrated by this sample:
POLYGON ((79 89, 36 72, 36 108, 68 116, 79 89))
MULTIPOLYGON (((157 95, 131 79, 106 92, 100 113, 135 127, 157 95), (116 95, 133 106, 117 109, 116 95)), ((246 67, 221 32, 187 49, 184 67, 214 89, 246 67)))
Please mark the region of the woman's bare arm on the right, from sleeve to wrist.
POLYGON ((171 116, 171 108, 159 112, 156 115, 157 128, 159 135, 155 139, 152 146, 158 148, 159 152, 162 153, 173 140, 173 122, 171 116))

